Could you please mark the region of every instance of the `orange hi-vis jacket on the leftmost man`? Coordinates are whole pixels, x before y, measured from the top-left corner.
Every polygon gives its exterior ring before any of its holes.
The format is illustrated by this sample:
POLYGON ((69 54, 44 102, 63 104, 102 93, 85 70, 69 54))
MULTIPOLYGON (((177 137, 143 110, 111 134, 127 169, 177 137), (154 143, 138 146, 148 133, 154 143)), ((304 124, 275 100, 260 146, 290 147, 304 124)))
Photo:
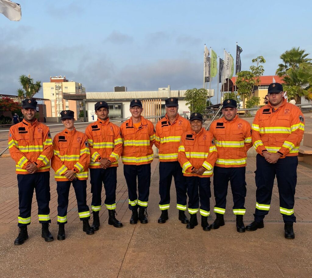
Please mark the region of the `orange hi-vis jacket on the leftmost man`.
POLYGON ((50 171, 53 145, 49 128, 37 119, 32 124, 23 119, 10 128, 9 151, 16 161, 17 174, 28 174, 25 167, 29 163, 38 167, 37 172, 50 171))

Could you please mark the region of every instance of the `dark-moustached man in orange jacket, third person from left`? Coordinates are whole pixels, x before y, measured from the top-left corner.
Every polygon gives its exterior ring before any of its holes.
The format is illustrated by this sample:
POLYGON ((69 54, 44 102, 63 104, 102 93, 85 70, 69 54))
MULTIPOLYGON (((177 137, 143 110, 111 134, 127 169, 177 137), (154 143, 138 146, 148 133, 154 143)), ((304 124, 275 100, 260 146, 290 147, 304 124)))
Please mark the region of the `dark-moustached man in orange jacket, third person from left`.
POLYGON ((91 162, 90 182, 92 193, 92 228, 97 231, 100 226, 99 212, 101 210, 102 182, 105 188, 105 206, 108 210, 108 224, 122 227, 115 217, 116 187, 118 159, 122 151, 122 139, 119 127, 110 122, 108 104, 102 100, 94 106, 98 119, 85 129, 90 145, 91 162))

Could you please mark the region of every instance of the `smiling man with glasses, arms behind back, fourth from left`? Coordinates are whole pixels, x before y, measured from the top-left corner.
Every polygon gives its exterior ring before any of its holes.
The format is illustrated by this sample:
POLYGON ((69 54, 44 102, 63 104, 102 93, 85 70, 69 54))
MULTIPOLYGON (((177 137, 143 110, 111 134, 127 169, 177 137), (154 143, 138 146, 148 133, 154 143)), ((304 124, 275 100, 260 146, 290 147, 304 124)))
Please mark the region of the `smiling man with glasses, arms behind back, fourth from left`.
POLYGON ((129 110, 131 118, 120 126, 124 144, 121 160, 124 163, 124 177, 128 186, 129 209, 132 211, 130 224, 136 224, 138 220, 145 224, 148 222, 145 211, 149 200, 155 129, 154 124, 141 115, 143 106, 140 100, 132 100, 129 110))

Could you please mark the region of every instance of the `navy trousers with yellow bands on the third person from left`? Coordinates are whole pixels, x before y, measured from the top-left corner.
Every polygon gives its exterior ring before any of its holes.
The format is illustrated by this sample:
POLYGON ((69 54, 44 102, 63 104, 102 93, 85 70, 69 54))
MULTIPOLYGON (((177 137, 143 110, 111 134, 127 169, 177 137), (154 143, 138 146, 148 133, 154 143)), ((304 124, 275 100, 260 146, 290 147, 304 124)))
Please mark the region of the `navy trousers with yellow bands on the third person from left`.
POLYGON ((100 211, 102 205, 102 183, 105 189, 105 206, 107 209, 116 208, 117 167, 90 168, 90 182, 92 193, 92 211, 100 211))

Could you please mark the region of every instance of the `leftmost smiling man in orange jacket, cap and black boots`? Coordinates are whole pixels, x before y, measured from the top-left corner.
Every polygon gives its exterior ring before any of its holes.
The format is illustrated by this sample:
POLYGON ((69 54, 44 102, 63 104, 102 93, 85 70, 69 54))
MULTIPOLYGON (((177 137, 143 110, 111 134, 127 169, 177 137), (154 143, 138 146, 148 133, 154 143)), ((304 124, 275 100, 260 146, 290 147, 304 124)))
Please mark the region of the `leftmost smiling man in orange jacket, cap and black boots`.
POLYGON ((49 231, 50 202, 50 159, 53 146, 49 128, 35 118, 37 101, 22 101, 24 119, 13 125, 9 132, 9 150, 16 161, 16 173, 19 195, 19 233, 15 245, 28 239, 27 225, 31 222, 32 196, 36 190, 39 222, 42 224, 41 236, 52 241, 49 231))

